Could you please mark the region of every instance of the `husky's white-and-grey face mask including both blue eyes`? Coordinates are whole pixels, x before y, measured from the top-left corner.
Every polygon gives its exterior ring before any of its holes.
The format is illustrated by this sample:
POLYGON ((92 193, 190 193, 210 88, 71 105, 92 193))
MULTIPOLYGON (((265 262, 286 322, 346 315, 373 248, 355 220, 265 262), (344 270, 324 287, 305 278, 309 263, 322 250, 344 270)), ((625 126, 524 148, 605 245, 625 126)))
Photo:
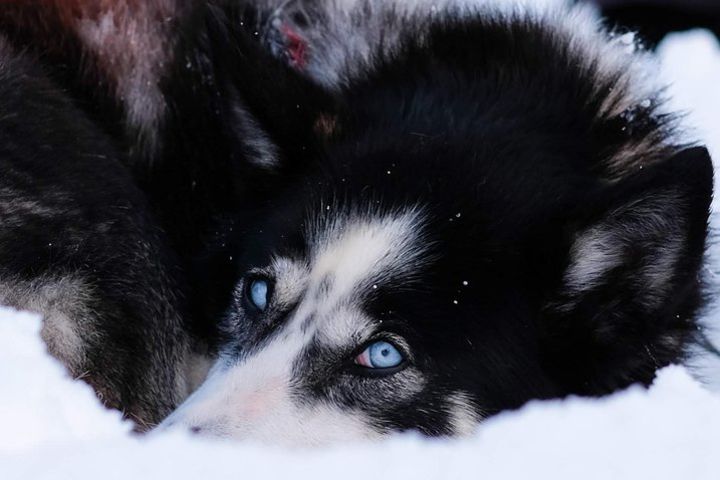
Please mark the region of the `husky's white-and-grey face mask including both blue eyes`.
POLYGON ((482 411, 464 382, 443 374, 467 369, 455 364, 475 346, 421 332, 452 322, 473 287, 458 278, 446 306, 424 282, 435 259, 422 219, 414 209, 340 214, 308 232, 307 255, 250 269, 233 295, 227 350, 174 418, 212 434, 306 444, 470 431, 482 411))

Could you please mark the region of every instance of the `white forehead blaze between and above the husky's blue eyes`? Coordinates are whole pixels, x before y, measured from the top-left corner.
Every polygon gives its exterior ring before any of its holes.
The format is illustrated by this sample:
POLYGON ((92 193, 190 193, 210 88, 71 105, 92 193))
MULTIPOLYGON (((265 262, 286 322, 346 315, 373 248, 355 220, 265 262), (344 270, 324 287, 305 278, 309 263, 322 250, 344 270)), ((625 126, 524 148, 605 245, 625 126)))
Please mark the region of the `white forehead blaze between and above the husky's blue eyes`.
MULTIPOLYGON (((328 211, 328 210, 325 210, 328 211)), ((296 305, 289 331, 341 346, 366 337, 375 323, 366 303, 417 276, 426 258, 420 209, 339 213, 316 218, 306 257, 277 257, 275 301, 296 305)))

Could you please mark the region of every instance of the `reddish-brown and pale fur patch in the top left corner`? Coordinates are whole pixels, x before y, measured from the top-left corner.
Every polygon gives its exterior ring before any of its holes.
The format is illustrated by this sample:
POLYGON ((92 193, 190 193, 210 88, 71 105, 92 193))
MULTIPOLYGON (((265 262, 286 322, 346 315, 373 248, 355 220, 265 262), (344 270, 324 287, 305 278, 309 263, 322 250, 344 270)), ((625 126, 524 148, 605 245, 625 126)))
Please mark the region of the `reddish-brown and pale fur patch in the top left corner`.
MULTIPOLYGON (((197 0, 0 0, 0 33, 49 64, 75 68, 76 87, 110 97, 143 148, 154 148, 179 23, 197 0)), ((71 74, 73 72, 70 72, 71 74)))

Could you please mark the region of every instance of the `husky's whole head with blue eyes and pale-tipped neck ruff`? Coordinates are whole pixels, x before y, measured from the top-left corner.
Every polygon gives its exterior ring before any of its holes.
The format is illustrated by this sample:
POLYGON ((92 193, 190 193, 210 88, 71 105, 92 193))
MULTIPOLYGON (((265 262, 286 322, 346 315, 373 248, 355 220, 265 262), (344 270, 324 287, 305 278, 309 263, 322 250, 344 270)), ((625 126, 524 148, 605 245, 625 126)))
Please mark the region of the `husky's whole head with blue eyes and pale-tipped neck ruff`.
MULTIPOLYGON (((312 131, 218 226, 219 358, 163 426, 305 445, 464 434, 681 361, 713 171, 642 53, 582 9, 343 3, 340 20, 311 3, 315 23, 286 5, 250 27, 331 107, 280 104, 317 112, 312 131)), ((231 11, 213 28, 242 43, 231 11)), ((232 92, 257 75, 227 51, 232 92)))

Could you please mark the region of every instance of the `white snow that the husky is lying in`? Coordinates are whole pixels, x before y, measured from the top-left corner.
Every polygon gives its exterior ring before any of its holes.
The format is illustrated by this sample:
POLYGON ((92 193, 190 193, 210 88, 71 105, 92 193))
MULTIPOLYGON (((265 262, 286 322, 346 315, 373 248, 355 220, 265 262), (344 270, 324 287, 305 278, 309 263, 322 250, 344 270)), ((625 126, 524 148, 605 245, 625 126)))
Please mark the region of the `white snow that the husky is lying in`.
MULTIPOLYGON (((720 160, 720 46, 697 31, 668 38, 659 54, 672 106, 689 112, 695 135, 720 160)), ((717 231, 717 213, 712 223, 717 231)), ((716 278, 718 258, 720 246, 713 245, 707 273, 716 278)), ((711 307, 705 322, 720 324, 720 309, 711 307)), ((39 325, 34 315, 0 309, 2 480, 720 478, 720 393, 682 367, 661 371, 649 390, 532 402, 488 420, 470 438, 401 435, 287 451, 181 433, 131 434, 117 412, 102 408, 88 386, 47 356, 39 325)), ((717 387, 718 363, 698 357, 693 372, 717 387)))

